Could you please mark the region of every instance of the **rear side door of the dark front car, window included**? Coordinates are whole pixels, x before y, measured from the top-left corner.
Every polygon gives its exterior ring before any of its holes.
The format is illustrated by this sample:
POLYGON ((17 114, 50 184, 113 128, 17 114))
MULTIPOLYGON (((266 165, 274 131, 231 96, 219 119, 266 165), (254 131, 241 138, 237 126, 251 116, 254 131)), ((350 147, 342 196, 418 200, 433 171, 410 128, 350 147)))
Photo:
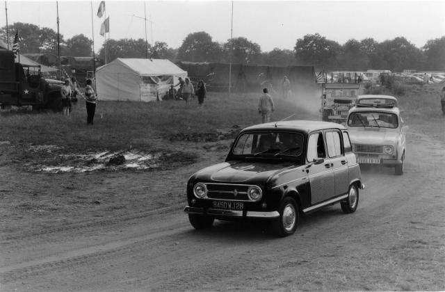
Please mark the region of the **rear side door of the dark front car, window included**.
POLYGON ((348 193, 349 175, 348 159, 341 145, 341 133, 338 130, 328 130, 325 133, 327 156, 330 158, 335 180, 335 196, 348 193))

